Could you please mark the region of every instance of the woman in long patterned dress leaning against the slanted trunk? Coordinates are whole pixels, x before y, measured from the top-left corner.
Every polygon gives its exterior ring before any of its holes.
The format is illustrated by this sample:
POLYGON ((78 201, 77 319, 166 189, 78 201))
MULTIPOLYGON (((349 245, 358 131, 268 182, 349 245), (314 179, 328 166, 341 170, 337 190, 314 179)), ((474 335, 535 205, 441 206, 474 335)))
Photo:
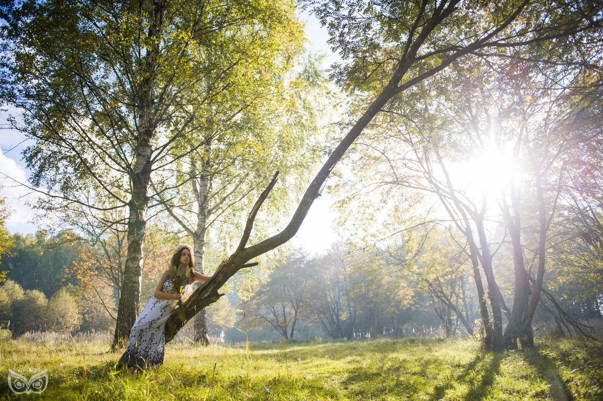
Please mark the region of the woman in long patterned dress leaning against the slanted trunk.
MULTIPOLYGON (((192 247, 188 244, 179 244, 169 263, 170 269, 163 272, 155 292, 145 303, 130 330, 128 347, 121 362, 130 367, 131 373, 138 368, 158 367, 163 364, 165 322, 174 311, 178 300, 182 300, 183 295, 179 291, 182 288, 174 288, 174 282, 181 282, 184 286, 182 292, 186 293, 189 285, 194 281, 206 282, 210 279, 210 276, 195 272, 192 247)), ((228 263, 229 260, 224 259, 218 269, 228 263)))

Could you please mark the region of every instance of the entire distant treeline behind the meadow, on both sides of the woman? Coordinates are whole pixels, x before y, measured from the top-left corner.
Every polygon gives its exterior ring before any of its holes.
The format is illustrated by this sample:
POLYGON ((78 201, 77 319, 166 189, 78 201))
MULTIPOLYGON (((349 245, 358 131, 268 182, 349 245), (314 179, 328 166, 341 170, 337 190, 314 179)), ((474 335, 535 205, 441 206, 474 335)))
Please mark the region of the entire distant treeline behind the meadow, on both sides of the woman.
MULTIPOLYGON (((445 238, 441 235, 435 241, 437 249, 425 243, 412 265, 345 244, 320 256, 283 253, 268 262, 269 273, 263 278, 241 281, 247 284, 208 308, 210 333, 222 334, 229 342, 244 341, 235 326, 247 329, 254 341, 478 334, 478 298, 470 269, 463 258, 444 257, 445 238), (439 255, 437 261, 434 255, 439 255)), ((143 300, 156 285, 162 252, 148 249, 143 300)), ((500 251, 503 260, 504 252, 505 248, 500 251)), ((0 285, 0 327, 13 335, 112 331, 119 285, 107 284, 113 270, 106 267, 116 261, 102 255, 107 256, 102 246, 91 246, 68 231, 14 234, 13 249, 2 258, 2 269, 8 272, 0 285)), ((119 276, 118 267, 115 271, 119 276)), ((573 319, 603 317, 601 293, 584 291, 579 277, 566 275, 549 282, 573 319)), ((562 334, 566 330, 545 301, 536 326, 562 334)), ((192 325, 188 326, 183 335, 191 331, 192 336, 192 325)))

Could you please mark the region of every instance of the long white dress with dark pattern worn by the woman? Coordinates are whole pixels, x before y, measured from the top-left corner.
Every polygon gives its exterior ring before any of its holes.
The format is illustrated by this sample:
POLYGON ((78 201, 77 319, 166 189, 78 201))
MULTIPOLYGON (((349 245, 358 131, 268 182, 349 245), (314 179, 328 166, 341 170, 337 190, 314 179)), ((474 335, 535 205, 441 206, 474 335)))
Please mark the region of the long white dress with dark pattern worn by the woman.
MULTIPOLYGON (((186 272, 182 282, 188 282, 186 272)), ((185 285, 185 293, 189 284, 185 285)), ((167 278, 163 283, 164 293, 175 294, 174 283, 167 278)), ((129 367, 146 369, 163 364, 165 353, 165 322, 176 308, 177 300, 159 299, 154 295, 148 299, 140 311, 134 326, 130 330, 128 347, 123 356, 123 363, 129 367)))

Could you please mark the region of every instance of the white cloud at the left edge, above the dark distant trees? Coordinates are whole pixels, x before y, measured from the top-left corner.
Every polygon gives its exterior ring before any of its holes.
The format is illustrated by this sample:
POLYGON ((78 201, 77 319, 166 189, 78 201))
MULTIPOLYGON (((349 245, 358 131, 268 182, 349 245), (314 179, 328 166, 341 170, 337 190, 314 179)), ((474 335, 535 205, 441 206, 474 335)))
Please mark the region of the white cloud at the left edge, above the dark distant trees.
POLYGON ((28 202, 36 202, 37 194, 22 184, 27 184, 25 170, 17 161, 0 152, 0 185, 3 187, 0 190, 0 198, 5 199, 5 206, 11 212, 6 221, 6 228, 11 233, 27 234, 37 230, 30 221, 34 215, 33 209, 27 205, 28 202))

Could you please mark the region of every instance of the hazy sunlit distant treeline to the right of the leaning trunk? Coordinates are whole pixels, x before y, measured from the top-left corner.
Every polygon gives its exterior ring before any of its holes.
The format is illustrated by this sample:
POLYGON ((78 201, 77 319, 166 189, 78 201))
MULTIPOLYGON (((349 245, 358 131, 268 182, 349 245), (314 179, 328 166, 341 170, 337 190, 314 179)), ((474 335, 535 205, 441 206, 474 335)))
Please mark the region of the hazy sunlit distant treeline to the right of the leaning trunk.
MULTIPOLYGON (((434 234, 434 232, 432 232, 434 234)), ((443 233, 441 233, 443 234, 443 233)), ((251 286, 238 308, 241 325, 271 330, 284 338, 408 337, 416 335, 479 335, 478 297, 464 258, 446 253, 440 235, 402 263, 393 253, 339 244, 320 256, 288 253, 265 280, 251 286), (434 260, 435 258, 435 260, 434 260)), ((505 261, 504 247, 500 258, 505 261)), ((400 255, 398 255, 400 256, 400 255)), ((403 260, 403 259, 402 259, 403 260)), ((501 263, 499 270, 508 269, 501 263)), ((581 287, 581 276, 551 278, 552 291, 567 317, 589 322, 603 317, 600 291, 581 287)), ((505 283, 505 288, 507 284, 505 283)), ((511 292, 503 296, 510 299, 511 292)), ((567 334, 550 300, 541 299, 535 327, 567 334)), ((256 336, 252 336, 254 339, 256 336)))

